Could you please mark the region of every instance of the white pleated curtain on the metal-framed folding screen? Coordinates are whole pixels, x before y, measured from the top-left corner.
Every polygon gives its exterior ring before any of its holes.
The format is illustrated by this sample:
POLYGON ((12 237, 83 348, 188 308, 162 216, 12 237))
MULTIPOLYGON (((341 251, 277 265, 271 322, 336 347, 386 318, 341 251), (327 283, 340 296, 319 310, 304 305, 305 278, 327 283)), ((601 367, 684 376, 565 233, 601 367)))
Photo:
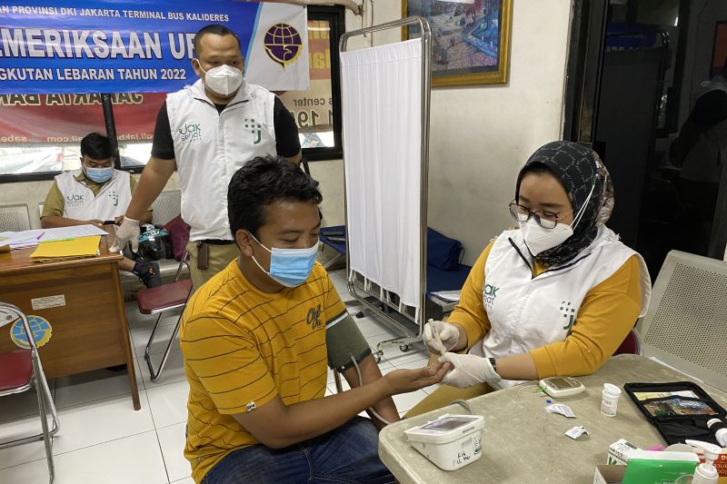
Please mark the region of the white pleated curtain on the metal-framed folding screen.
POLYGON ((422 44, 341 54, 351 269, 419 308, 422 44))

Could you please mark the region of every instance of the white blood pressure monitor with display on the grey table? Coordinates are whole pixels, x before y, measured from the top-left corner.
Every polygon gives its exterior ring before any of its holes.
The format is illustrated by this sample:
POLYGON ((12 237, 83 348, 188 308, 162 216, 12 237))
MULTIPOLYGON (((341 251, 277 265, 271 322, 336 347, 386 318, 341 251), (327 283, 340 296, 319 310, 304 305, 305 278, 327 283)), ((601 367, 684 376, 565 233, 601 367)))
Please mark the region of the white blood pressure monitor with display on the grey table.
POLYGON ((483 428, 482 415, 445 413, 404 433, 412 447, 439 469, 455 470, 482 457, 483 428))

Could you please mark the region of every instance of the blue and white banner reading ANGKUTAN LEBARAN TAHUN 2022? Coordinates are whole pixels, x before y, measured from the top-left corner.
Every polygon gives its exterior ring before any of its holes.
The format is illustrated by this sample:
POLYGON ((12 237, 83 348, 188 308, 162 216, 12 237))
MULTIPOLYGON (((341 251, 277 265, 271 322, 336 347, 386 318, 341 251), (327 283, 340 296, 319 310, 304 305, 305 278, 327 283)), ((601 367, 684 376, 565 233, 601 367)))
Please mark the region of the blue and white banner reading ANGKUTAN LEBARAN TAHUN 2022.
POLYGON ((21 0, 0 5, 0 94, 171 93, 193 84, 193 39, 240 38, 248 82, 308 89, 305 9, 232 0, 21 0))

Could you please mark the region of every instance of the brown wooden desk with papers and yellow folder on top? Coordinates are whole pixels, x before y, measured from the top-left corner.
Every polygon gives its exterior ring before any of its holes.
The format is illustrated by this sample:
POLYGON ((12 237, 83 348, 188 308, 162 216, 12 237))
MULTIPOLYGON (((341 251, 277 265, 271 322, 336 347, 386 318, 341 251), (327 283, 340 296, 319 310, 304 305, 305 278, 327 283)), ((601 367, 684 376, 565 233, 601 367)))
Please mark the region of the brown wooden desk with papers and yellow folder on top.
MULTIPOLYGON (((122 256, 108 252, 108 239, 111 237, 101 238, 101 255, 88 259, 31 262, 30 254, 35 248, 0 253, 0 301, 15 304, 26 315, 40 316, 51 324, 50 340, 38 348, 48 378, 125 364, 134 410, 139 410, 134 357, 119 281, 118 262, 122 256), (32 300, 51 296, 63 296, 65 304, 33 309, 32 300)), ((35 301, 36 308, 39 302, 35 301)), ((13 350, 17 347, 4 331, 0 335, 0 351, 13 350)))

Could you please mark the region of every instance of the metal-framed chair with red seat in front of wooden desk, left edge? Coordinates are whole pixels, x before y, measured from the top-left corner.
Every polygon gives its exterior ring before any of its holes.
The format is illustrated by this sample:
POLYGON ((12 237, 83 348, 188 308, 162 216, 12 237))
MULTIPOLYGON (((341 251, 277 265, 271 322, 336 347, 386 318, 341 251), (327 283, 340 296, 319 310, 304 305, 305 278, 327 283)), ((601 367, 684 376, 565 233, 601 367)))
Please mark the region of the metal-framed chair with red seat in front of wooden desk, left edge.
POLYGON ((38 349, 35 346, 33 331, 31 331, 25 313, 12 304, 0 302, 0 328, 15 321, 22 321, 23 323, 22 328, 25 332, 25 341, 28 348, 0 353, 0 369, 2 369, 0 371, 0 398, 22 393, 31 388, 35 389, 38 396, 38 412, 40 413, 42 431, 30 437, 0 442, 0 449, 35 440, 43 440, 45 443, 45 457, 48 461, 49 481, 53 482, 55 467, 51 450, 51 438, 60 428, 53 397, 48 388, 48 382, 45 380, 45 373, 38 356, 38 349), (48 430, 48 410, 50 410, 53 417, 53 429, 51 430, 48 430))

